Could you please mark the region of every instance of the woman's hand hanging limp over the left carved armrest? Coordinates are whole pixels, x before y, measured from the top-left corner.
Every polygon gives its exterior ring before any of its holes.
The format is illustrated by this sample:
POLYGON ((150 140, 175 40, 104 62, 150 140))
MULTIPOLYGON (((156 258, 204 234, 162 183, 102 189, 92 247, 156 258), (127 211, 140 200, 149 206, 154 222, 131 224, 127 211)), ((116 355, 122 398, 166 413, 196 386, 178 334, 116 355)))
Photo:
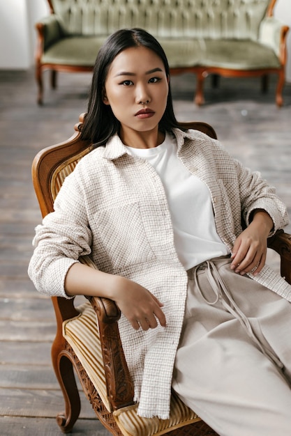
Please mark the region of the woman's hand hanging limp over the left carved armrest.
POLYGON ((135 330, 154 329, 160 322, 166 327, 163 304, 143 286, 126 277, 115 276, 111 298, 135 330))

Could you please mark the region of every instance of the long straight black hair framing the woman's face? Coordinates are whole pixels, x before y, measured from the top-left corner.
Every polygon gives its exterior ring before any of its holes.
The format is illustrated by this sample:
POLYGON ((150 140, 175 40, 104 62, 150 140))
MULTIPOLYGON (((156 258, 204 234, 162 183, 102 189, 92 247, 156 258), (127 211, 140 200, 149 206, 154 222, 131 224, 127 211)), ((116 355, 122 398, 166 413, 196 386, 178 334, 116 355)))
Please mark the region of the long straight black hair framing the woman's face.
MULTIPOLYGON (((107 38, 96 58, 88 110, 81 133, 81 138, 89 139, 93 148, 104 146, 112 135, 119 132, 119 120, 114 116, 111 107, 103 103, 105 80, 110 65, 117 54, 123 50, 140 46, 151 49, 161 58, 165 66, 165 73, 167 77, 170 77, 167 56, 160 43, 147 31, 143 29, 121 29, 107 38)), ((167 106, 158 127, 159 130, 165 131, 171 130, 172 127, 177 127, 177 125, 169 84, 167 106)))

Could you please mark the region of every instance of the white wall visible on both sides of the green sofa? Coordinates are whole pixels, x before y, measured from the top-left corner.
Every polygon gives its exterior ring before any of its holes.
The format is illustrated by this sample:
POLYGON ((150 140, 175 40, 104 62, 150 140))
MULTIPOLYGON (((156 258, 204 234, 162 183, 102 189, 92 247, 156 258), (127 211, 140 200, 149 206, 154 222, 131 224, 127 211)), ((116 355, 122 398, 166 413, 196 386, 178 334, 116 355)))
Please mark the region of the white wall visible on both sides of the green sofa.
MULTIPOLYGON (((0 0, 0 69, 27 70, 36 49, 34 24, 49 13, 47 0, 0 0)), ((277 0, 274 15, 290 26, 286 79, 291 82, 290 0, 277 0)))

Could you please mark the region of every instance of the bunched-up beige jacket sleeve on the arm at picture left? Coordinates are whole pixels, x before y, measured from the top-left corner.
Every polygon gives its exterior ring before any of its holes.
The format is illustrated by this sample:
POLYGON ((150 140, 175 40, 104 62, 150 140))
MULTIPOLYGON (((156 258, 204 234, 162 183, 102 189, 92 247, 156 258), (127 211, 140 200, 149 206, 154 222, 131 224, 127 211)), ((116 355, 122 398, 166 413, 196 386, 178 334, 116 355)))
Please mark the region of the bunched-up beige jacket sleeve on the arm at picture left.
POLYGON ((40 293, 66 297, 69 268, 91 252, 86 201, 75 171, 66 178, 54 203, 54 212, 36 227, 28 274, 40 293))

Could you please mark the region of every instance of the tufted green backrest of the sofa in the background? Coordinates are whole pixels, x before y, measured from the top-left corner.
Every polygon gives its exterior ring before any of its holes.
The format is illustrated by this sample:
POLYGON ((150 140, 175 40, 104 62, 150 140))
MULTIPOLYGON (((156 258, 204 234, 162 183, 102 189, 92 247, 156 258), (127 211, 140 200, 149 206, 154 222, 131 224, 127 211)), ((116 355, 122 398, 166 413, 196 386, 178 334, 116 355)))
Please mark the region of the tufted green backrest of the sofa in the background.
POLYGON ((276 0, 48 0, 67 35, 141 27, 156 38, 256 40, 276 0))

